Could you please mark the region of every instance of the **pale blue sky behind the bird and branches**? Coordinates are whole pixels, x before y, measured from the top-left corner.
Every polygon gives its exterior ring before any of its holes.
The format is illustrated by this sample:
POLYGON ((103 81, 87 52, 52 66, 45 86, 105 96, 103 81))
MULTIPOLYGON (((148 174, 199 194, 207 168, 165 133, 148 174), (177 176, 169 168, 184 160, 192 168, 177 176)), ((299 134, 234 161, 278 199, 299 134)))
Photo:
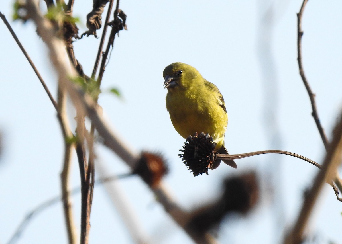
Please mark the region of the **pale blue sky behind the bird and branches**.
MULTIPOLYGON (((133 150, 163 153, 170 167, 165 180, 185 209, 215 199, 226 176, 251 169, 259 173, 259 204, 246 218, 234 215, 222 223, 221 243, 278 243, 281 230, 290 227, 298 215, 303 191, 312 185, 317 169, 286 155, 260 155, 237 160, 236 170, 223 164, 209 176, 193 177, 178 157, 185 140, 174 130, 165 108, 162 71, 173 62, 187 63, 219 87, 229 116, 225 141, 230 153, 281 149, 321 163, 325 150, 296 60, 296 13, 301 3, 120 1, 128 31, 115 39, 102 90, 117 87, 123 99, 108 93, 99 99, 113 128, 133 150)), ((0 1, 0 11, 9 20, 12 5, 9 0, 0 1)), ((86 30, 91 8, 92 1, 75 1, 80 34, 86 30)), ((329 139, 342 105, 341 12, 341 1, 309 1, 302 26, 303 65, 329 139)), ((56 97, 56 76, 35 26, 30 21, 24 25, 10 22, 56 97)), ((60 193, 64 146, 56 112, 43 87, 2 21, 0 31, 0 243, 4 244, 29 211, 60 193)), ((88 75, 98 43, 94 37, 74 42, 76 57, 88 75)), ((72 120, 71 105, 69 115, 72 120)), ((108 149, 99 145, 96 151, 108 173, 128 172, 108 149)), ((148 243, 193 243, 139 178, 117 184, 148 243)), ((79 185, 76 157, 72 185, 79 185)), ((73 203, 79 226, 79 194, 73 203)), ((310 223, 309 231, 317 237, 314 243, 342 243, 341 212, 342 203, 327 185, 310 223)), ((17 243, 67 243, 61 204, 37 215, 17 243)), ((134 243, 101 186, 94 193, 90 243, 134 243)))

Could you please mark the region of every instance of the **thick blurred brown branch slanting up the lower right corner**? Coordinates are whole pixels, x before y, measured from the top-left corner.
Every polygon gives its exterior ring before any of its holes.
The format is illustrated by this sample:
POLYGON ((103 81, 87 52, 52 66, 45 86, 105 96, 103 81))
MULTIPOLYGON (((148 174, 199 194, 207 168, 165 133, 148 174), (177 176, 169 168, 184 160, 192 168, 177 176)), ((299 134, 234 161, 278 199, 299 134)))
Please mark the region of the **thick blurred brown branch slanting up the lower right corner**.
POLYGON ((342 161, 342 114, 340 121, 335 126, 331 144, 328 146, 327 155, 321 170, 318 172, 314 184, 305 196, 301 212, 291 233, 285 240, 286 244, 299 244, 304 240, 304 231, 312 209, 326 182, 331 182, 336 176, 338 166, 342 161))

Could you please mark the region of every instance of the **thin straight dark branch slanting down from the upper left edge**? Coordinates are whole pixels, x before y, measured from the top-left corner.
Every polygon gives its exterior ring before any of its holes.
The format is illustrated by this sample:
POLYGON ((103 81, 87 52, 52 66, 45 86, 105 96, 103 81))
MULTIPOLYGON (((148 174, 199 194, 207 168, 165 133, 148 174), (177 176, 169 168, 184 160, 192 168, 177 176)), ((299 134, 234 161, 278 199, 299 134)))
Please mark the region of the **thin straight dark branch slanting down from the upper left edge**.
POLYGON ((23 54, 25 55, 27 61, 29 62, 29 64, 31 65, 32 69, 35 71, 40 83, 43 85, 44 87, 44 90, 45 92, 48 94, 50 100, 51 100, 51 103, 52 105, 55 107, 55 110, 58 111, 58 106, 57 106, 57 103, 55 101, 55 99, 53 98, 51 92, 49 91, 49 88, 48 86, 45 84, 43 78, 40 76, 40 73, 38 72, 36 66, 34 65, 34 63, 32 62, 30 56, 27 54, 26 50, 24 49, 23 45, 21 44, 21 42, 19 41, 17 35, 15 35, 10 23, 8 23, 5 15, 3 15, 1 12, 0 12, 0 17, 2 19, 2 21, 5 23, 6 27, 8 28, 8 30, 11 32, 12 34, 12 37, 14 38, 15 42, 18 44, 20 50, 23 52, 23 54))

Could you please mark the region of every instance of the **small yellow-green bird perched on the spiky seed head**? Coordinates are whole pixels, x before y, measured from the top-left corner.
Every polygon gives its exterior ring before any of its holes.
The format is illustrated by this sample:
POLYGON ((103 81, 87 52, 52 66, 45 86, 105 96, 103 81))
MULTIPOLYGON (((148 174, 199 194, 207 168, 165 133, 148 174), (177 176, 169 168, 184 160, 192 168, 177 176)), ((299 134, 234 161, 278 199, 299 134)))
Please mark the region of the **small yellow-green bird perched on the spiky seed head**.
MULTIPOLYGON (((166 109, 175 130, 185 139, 195 133, 209 133, 216 143, 215 151, 229 154, 224 146, 227 110, 217 86, 204 79, 194 67, 179 62, 167 66, 163 78, 168 91, 166 109)), ((222 161, 237 168, 234 160, 222 161)), ((220 163, 221 160, 216 159, 211 169, 220 163)))

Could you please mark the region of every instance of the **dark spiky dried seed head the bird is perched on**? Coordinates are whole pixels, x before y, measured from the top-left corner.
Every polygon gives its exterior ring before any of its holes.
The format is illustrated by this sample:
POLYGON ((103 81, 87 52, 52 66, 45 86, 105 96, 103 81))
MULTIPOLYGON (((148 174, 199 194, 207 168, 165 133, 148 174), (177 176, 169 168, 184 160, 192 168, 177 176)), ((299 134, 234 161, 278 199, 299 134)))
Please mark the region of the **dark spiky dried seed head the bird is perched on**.
POLYGON ((212 136, 209 134, 195 134, 186 138, 183 150, 180 151, 179 157, 188 170, 193 172, 194 176, 206 173, 208 175, 209 169, 212 167, 216 159, 216 151, 212 136))

